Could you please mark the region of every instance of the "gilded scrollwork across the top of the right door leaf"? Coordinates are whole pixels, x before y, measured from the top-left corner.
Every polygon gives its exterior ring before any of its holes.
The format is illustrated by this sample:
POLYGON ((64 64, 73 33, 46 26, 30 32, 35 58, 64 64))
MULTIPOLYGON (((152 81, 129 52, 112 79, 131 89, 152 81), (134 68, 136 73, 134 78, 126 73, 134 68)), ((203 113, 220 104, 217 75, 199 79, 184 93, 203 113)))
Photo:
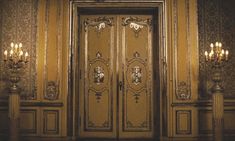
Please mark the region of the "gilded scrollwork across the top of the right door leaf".
POLYGON ((141 31, 142 28, 144 27, 150 27, 152 26, 152 19, 140 19, 138 17, 127 17, 127 18, 122 18, 122 25, 127 26, 135 32, 135 36, 139 36, 139 32, 141 31))

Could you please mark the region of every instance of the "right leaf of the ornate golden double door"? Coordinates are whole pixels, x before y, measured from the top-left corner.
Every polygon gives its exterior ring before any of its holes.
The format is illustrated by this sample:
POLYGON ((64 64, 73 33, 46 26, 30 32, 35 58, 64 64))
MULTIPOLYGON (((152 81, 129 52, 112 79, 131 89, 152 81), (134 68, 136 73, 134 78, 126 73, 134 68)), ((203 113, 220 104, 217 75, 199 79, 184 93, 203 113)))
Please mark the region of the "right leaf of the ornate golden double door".
POLYGON ((120 137, 152 137, 151 16, 121 16, 120 137))

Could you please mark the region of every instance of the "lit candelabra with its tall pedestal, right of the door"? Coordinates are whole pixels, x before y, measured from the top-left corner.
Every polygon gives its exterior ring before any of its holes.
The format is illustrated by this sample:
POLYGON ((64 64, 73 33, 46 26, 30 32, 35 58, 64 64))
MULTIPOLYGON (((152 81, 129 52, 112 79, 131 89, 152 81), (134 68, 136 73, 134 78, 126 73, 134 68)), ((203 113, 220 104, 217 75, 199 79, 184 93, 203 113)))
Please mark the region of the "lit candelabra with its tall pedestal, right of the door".
POLYGON ((223 141, 224 127, 224 88, 221 85, 222 63, 228 61, 228 50, 222 49, 222 43, 210 44, 210 52, 205 51, 206 62, 212 63, 212 114, 214 141, 223 141))

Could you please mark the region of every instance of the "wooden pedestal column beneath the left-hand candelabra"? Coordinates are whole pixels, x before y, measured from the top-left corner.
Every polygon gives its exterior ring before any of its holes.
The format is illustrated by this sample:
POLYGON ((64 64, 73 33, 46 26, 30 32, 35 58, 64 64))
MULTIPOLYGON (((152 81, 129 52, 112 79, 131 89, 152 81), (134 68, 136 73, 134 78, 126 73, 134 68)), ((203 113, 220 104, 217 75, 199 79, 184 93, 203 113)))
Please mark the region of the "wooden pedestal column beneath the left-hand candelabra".
POLYGON ((19 114, 20 114, 20 96, 18 93, 9 95, 9 141, 19 140, 19 114))

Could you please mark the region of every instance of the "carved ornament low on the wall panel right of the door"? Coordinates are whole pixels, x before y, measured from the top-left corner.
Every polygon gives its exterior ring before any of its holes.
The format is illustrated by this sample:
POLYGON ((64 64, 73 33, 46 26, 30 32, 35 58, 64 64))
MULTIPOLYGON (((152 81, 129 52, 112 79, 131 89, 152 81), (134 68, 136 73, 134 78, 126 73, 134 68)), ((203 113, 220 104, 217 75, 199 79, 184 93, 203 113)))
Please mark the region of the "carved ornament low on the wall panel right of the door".
POLYGON ((191 94, 188 90, 188 85, 186 82, 181 81, 178 84, 177 92, 176 92, 176 98, 178 100, 189 100, 191 99, 191 94))

